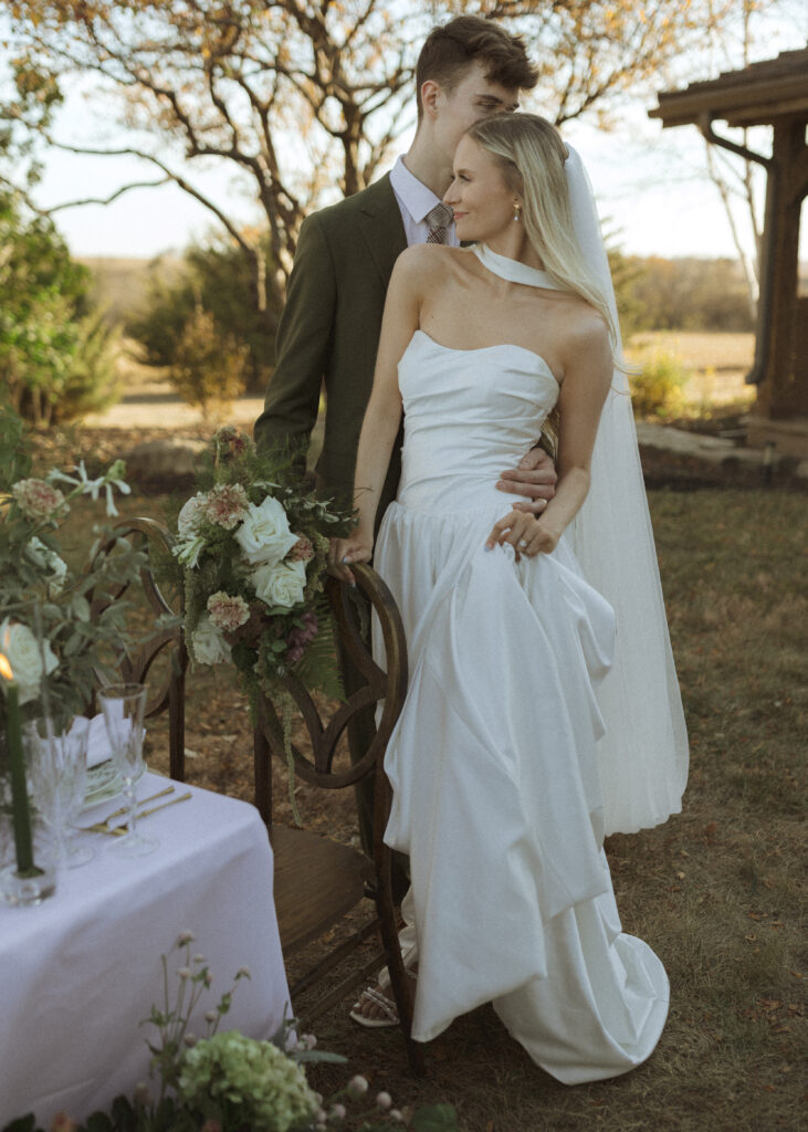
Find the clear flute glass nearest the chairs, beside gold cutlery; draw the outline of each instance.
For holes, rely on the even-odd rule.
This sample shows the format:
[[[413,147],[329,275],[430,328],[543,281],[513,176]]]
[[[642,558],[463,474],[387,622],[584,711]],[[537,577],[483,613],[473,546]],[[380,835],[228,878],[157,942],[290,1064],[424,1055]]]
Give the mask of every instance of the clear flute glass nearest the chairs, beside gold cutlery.
[[[123,780],[123,792],[129,807],[129,832],[110,846],[109,852],[121,857],[145,857],[160,844],[154,838],[144,838],[137,831],[135,816],[135,783],[143,773],[143,717],[146,707],[146,687],[143,684],[109,684],[98,693],[104,713],[106,737],[112,758]]]

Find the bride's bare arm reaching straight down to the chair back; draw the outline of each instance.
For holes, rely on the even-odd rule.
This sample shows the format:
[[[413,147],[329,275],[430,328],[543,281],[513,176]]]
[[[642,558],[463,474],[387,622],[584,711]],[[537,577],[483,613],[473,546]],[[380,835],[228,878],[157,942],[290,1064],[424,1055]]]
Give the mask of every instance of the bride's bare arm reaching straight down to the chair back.
[[[329,554],[332,573],[346,582],[352,582],[353,575],[343,564],[369,561],[373,552],[376,512],[402,419],[398,362],[419,325],[419,281],[422,280],[422,272],[418,267],[420,250],[410,248],[402,252],[387,289],[373,387],[364,411],[356,452],[353,504],[359,520],[346,539],[332,540]]]

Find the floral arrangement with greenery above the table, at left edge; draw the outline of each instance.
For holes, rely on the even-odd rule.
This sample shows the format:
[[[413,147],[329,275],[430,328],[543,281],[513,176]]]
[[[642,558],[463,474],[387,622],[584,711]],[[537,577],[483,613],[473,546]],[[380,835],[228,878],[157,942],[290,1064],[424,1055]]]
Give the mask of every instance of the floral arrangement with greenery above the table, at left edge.
[[[95,479],[84,463],[68,472],[54,469],[44,478],[31,477],[29,469],[23,422],[3,410],[0,652],[10,664],[24,713],[42,710],[38,700],[46,686],[49,713],[62,730],[91,702],[98,672],[112,674],[110,664],[126,640],[124,606],[112,601],[93,619],[91,603],[120,593],[137,577],[144,559],[126,540],[106,552],[97,549],[100,541],[92,561],[76,569],[61,544],[65,520],[79,500],[105,496],[108,516],[118,514],[114,492],[129,494],[121,461]],[[0,717],[3,712],[0,695]]]

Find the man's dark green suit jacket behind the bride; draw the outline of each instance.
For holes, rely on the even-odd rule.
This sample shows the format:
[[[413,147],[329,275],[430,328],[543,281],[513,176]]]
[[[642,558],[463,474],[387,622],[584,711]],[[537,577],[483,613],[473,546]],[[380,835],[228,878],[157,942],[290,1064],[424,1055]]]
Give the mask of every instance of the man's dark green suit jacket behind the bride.
[[[370,397],[387,284],[406,248],[389,175],[307,217],[277,332],[276,363],[256,441],[308,448],[325,384],[326,429],[317,461],[320,490],[350,500],[356,446]],[[402,435],[394,447],[377,523],[395,498]],[[303,472],[303,455],[300,472]]]

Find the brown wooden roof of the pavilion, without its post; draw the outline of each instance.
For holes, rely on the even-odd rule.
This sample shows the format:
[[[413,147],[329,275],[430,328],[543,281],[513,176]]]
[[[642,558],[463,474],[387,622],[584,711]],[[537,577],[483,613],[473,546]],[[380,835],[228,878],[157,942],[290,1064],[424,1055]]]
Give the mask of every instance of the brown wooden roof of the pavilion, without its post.
[[[697,125],[705,114],[729,126],[771,126],[775,118],[808,114],[808,48],[661,92],[659,102],[648,117],[663,126]]]

